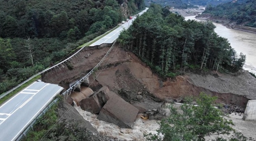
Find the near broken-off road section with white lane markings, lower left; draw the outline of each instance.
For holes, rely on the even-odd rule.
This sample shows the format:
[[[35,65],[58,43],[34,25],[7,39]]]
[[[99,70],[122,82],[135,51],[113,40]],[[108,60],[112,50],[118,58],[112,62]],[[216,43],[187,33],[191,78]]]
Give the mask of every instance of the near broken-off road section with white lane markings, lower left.
[[[63,90],[36,81],[0,107],[0,141],[14,141],[32,120]]]

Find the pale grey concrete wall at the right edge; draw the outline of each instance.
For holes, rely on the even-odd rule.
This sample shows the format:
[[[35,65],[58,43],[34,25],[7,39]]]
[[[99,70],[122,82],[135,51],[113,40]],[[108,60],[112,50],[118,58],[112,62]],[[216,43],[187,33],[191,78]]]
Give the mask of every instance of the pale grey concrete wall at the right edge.
[[[256,100],[248,101],[243,120],[256,120]]]

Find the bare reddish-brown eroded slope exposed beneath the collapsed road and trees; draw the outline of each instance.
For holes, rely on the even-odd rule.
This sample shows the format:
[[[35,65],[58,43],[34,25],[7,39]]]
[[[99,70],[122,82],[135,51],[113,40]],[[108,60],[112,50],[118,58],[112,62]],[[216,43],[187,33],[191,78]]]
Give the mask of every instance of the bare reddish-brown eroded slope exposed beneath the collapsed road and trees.
[[[56,71],[46,72],[43,81],[60,84],[63,87],[82,77],[104,56],[109,47],[89,47],[79,52],[76,59],[70,61],[72,70],[63,66]],[[96,79],[95,79],[96,78]],[[184,96],[197,96],[206,92],[218,96],[219,102],[227,105],[246,106],[248,99],[256,99],[256,79],[248,72],[237,76],[211,72],[207,74],[185,73],[175,79],[162,80],[132,52],[116,46],[99,70],[90,76],[91,88],[108,85],[109,90],[120,93],[123,90],[128,101],[136,99],[138,92],[172,101]],[[150,94],[149,94],[150,93]],[[125,98],[121,96],[122,98]]]

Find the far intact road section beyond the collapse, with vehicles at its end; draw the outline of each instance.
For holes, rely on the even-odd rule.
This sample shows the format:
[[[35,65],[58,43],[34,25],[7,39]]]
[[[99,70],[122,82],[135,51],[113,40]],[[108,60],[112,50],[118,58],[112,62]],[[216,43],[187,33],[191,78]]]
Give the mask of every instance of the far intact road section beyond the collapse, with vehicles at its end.
[[[145,10],[141,11],[139,15],[145,13],[148,10],[146,8]],[[128,29],[130,25],[132,25],[132,22],[136,19],[136,16],[134,16],[131,20],[128,22],[125,22],[122,24],[120,27],[112,31],[111,33],[107,34],[106,36],[102,37],[100,40],[96,41],[95,43],[91,44],[90,47],[93,47],[95,45],[101,45],[102,43],[113,43],[115,40],[117,40],[119,34],[121,33],[122,30]]]

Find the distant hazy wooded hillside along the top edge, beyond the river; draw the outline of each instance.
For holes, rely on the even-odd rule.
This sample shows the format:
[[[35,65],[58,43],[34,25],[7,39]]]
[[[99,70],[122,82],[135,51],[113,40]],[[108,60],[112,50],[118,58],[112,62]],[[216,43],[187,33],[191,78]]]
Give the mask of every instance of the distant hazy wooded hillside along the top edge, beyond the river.
[[[218,5],[232,0],[145,0],[145,4],[160,4],[161,6],[170,6],[178,9],[194,8],[194,5]]]

